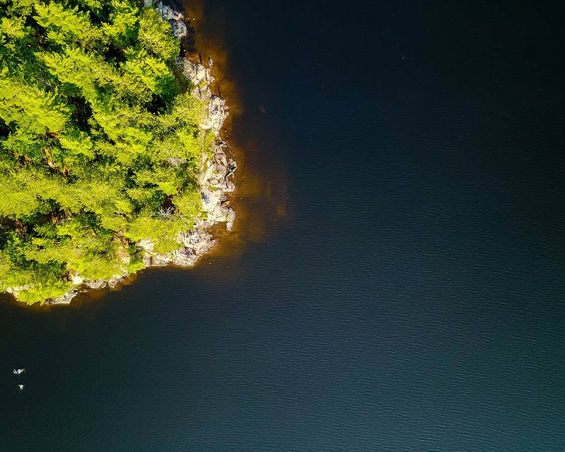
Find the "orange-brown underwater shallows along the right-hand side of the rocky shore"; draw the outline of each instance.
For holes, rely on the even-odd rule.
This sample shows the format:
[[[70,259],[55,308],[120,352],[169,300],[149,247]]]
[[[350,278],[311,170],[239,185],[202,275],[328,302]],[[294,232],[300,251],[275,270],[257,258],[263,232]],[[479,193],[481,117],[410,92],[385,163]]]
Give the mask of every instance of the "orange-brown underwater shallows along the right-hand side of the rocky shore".
[[[236,190],[227,194],[236,211],[233,230],[226,231],[221,223],[215,225],[212,232],[217,239],[216,245],[199,260],[198,265],[207,264],[211,258],[219,255],[238,257],[247,242],[266,241],[277,224],[288,217],[288,194],[282,162],[277,162],[269,150],[262,147],[259,137],[238,133],[238,123],[244,120],[245,113],[237,85],[242,81],[237,80],[236,84],[231,76],[229,46],[221,35],[225,16],[221,12],[216,14],[212,24],[205,15],[202,0],[186,0],[184,5],[195,47],[193,52],[186,52],[185,56],[195,63],[202,61],[205,66],[208,57],[212,58],[211,75],[215,79],[211,84],[212,94],[220,95],[229,106],[229,115],[220,138],[229,145],[228,156],[237,161],[237,171],[233,176]]]

